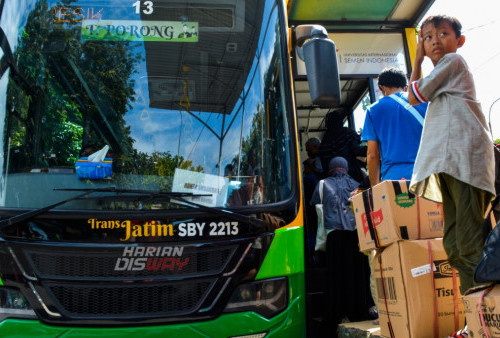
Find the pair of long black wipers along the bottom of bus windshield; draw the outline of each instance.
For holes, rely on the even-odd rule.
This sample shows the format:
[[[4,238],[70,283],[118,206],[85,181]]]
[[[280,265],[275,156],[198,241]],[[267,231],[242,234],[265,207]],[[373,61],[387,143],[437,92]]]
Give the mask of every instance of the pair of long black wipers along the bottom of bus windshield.
[[[82,199],[83,197],[90,195],[95,192],[112,192],[116,194],[140,194],[140,195],[145,195],[149,197],[164,197],[168,199],[176,199],[179,200],[183,203],[186,203],[188,205],[196,206],[200,210],[210,212],[212,214],[216,215],[221,215],[221,216],[226,216],[227,218],[230,218],[235,221],[240,221],[240,222],[247,222],[250,223],[251,225],[257,226],[259,229],[261,229],[264,225],[265,222],[259,218],[253,217],[253,216],[248,216],[244,214],[239,214],[232,212],[227,209],[219,209],[219,208],[213,208],[213,207],[207,207],[202,204],[198,204],[195,202],[191,202],[186,199],[186,197],[203,197],[203,196],[211,196],[210,194],[193,194],[190,192],[166,192],[166,191],[154,191],[154,190],[137,190],[137,189],[117,189],[115,187],[106,187],[106,188],[55,188],[54,190],[56,191],[83,191],[82,194],[67,198],[65,200],[62,200],[60,202],[48,205],[46,207],[28,211],[16,216],[9,217],[7,219],[4,219],[0,221],[0,230],[21,223],[25,222],[27,220],[30,220],[36,216],[42,215],[62,204],[66,204],[68,202]]]

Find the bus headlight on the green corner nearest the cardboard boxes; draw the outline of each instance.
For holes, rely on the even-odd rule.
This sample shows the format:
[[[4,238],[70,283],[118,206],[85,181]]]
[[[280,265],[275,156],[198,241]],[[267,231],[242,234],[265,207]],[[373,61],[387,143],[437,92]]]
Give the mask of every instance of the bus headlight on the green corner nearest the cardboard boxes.
[[[253,311],[271,318],[287,306],[288,280],[283,277],[240,285],[231,296],[224,312]]]

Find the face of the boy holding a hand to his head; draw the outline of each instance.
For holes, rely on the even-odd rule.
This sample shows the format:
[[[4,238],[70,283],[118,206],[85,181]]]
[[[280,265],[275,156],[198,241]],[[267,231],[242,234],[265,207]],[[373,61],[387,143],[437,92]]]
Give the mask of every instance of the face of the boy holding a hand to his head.
[[[422,27],[425,55],[434,64],[448,53],[455,53],[465,42],[465,36],[457,38],[455,30],[450,23],[442,21],[437,26],[429,23]]]

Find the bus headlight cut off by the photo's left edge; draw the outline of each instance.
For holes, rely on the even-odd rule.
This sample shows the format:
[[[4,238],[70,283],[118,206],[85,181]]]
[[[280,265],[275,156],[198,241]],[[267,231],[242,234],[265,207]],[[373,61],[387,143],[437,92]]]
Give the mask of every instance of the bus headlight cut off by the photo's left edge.
[[[37,318],[21,292],[0,287],[0,322],[7,318]]]

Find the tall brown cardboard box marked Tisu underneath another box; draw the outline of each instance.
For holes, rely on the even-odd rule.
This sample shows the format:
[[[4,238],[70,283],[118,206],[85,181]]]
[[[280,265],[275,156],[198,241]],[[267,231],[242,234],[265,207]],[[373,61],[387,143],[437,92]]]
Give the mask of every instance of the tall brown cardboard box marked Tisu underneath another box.
[[[442,239],[395,242],[377,252],[372,271],[382,336],[447,337],[465,325],[460,280]]]

